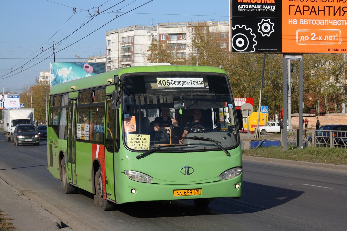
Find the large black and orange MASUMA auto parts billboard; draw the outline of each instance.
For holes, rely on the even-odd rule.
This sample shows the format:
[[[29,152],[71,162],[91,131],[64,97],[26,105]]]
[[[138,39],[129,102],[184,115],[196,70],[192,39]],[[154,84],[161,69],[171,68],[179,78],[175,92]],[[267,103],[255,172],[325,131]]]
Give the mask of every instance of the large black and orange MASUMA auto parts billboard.
[[[347,53],[342,0],[230,0],[231,52]]]

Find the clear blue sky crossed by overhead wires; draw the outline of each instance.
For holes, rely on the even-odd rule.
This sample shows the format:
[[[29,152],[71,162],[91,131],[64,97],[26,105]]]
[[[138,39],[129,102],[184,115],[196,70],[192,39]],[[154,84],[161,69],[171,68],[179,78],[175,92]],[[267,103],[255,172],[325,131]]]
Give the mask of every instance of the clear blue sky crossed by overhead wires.
[[[94,15],[98,7],[99,15]],[[75,55],[84,60],[105,54],[109,30],[229,20],[228,0],[12,0],[2,1],[1,9],[0,91],[18,93],[34,83],[41,70],[50,69],[53,41],[56,62],[77,62]]]

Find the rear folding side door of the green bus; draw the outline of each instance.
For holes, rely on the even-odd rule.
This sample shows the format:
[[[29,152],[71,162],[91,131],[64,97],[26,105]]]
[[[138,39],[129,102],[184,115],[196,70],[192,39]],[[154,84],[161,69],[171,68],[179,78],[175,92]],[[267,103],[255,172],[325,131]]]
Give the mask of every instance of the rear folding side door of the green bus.
[[[67,166],[69,182],[77,185],[76,180],[76,106],[77,100],[69,100],[67,133]]]

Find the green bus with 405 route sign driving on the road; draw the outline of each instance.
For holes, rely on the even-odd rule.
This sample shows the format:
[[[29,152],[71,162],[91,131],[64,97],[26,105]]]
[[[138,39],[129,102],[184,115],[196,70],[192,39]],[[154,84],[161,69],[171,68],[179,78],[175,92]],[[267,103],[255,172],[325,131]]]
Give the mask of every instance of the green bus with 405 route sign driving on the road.
[[[177,123],[159,132],[162,108]],[[187,126],[195,111],[204,126],[194,130]],[[102,210],[180,199],[208,206],[216,197],[241,197],[241,126],[221,68],[121,68],[52,86],[48,170],[64,193],[90,192]]]

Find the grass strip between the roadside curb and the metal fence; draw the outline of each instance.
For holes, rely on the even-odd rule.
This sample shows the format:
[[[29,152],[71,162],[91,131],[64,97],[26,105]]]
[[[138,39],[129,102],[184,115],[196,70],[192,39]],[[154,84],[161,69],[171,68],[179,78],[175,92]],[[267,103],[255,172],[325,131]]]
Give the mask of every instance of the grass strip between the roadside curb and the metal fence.
[[[347,149],[341,148],[306,147],[299,149],[289,146],[287,151],[283,151],[283,147],[261,147],[242,150],[242,154],[253,157],[347,165]]]

